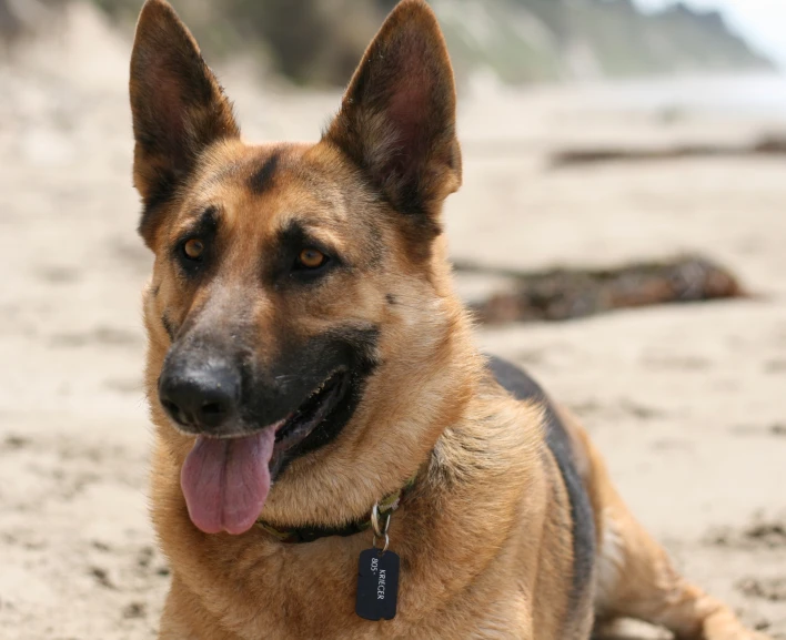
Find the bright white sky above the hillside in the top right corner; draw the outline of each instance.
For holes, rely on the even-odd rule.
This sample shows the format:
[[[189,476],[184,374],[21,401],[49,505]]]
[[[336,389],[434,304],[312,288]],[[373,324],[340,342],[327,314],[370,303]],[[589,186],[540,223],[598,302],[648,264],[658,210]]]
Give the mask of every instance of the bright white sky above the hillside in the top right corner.
[[[675,0],[635,0],[645,9],[661,9]],[[753,47],[786,69],[786,0],[684,0],[697,9],[720,9],[729,27]]]

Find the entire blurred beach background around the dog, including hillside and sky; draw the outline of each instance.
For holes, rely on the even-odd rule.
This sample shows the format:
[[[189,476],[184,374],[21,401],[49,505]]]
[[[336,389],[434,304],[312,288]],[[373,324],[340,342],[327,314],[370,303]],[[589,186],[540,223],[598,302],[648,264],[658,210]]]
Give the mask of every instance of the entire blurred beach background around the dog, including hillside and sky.
[[[0,0],[9,640],[149,638],[168,588],[127,94],[141,4]],[[173,4],[245,136],[272,141],[319,138],[395,1]],[[445,224],[478,342],[581,417],[691,578],[786,638],[786,3],[432,6],[465,158]]]

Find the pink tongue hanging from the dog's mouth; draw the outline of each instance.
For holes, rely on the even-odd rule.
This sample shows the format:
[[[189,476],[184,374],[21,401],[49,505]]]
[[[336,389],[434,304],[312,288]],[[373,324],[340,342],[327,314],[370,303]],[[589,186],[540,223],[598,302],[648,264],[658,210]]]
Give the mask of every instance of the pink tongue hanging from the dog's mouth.
[[[275,427],[230,440],[196,438],[180,473],[191,521],[205,534],[244,534],[270,491]]]

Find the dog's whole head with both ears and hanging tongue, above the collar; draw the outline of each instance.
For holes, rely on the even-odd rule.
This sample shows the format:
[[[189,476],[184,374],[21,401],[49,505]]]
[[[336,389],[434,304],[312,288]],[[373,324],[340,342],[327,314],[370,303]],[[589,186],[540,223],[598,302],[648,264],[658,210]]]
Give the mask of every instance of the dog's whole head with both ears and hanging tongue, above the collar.
[[[131,62],[148,387],[206,532],[339,525],[423,463],[468,393],[444,199],[461,183],[436,20],[404,0],[316,144],[251,145],[172,8]],[[276,480],[274,490],[269,490]]]

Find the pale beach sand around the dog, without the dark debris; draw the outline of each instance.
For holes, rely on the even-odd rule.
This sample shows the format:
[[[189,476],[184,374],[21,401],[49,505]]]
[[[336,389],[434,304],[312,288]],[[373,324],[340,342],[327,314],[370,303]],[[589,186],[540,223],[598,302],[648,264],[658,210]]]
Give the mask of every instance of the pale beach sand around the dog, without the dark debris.
[[[134,232],[130,44],[81,6],[64,27],[0,64],[0,637],[150,638],[169,571],[147,514],[151,256]],[[225,71],[252,140],[313,140],[337,104]],[[478,341],[582,417],[688,576],[786,638],[786,161],[546,163],[565,145],[734,142],[784,124],[706,108],[665,118],[627,91],[467,89],[453,255],[544,268],[699,251],[756,294]]]

